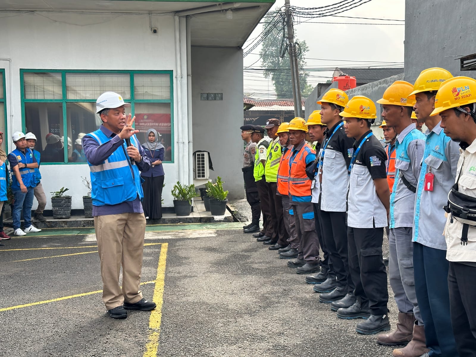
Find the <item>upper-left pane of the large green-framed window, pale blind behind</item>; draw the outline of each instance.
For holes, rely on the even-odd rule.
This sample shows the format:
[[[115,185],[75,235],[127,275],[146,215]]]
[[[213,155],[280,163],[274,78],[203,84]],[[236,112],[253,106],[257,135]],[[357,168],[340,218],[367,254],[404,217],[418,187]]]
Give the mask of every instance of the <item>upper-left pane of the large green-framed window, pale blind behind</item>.
[[[61,73],[23,74],[26,99],[62,99]]]

